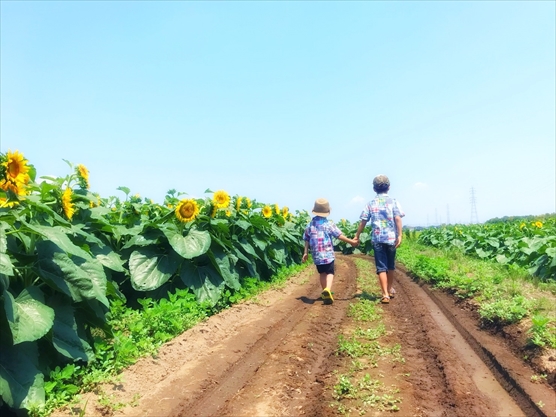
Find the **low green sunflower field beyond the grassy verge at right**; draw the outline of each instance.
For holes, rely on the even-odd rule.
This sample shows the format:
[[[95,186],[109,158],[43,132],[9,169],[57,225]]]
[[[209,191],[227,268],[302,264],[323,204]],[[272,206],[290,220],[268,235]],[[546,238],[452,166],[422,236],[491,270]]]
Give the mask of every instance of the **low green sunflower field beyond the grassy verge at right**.
[[[431,227],[420,232],[418,241],[436,248],[457,247],[467,255],[527,268],[542,280],[556,280],[555,215]]]

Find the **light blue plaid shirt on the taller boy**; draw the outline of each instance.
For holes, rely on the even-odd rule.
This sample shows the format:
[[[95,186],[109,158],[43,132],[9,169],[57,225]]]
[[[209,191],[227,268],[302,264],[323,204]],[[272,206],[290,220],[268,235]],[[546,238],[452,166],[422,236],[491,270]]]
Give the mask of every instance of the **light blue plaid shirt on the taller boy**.
[[[394,221],[396,216],[405,216],[400,203],[383,193],[377,194],[373,200],[367,203],[359,218],[366,222],[371,221],[371,240],[373,242],[394,245],[397,237],[396,222]]]

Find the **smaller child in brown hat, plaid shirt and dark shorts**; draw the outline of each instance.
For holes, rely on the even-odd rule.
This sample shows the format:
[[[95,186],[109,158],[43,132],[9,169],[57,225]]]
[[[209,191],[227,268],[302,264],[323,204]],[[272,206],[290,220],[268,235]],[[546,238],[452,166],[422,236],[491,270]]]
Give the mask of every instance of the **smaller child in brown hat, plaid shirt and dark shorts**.
[[[305,251],[303,252],[303,262],[307,260],[309,248],[313,262],[320,274],[320,285],[322,287],[322,299],[324,304],[332,304],[332,281],[334,280],[334,244],[332,238],[347,242],[352,246],[357,246],[358,242],[347,238],[342,234],[333,222],[327,217],[330,215],[330,204],[328,200],[319,198],[313,207],[315,217],[311,219],[305,228],[303,240],[305,241]]]

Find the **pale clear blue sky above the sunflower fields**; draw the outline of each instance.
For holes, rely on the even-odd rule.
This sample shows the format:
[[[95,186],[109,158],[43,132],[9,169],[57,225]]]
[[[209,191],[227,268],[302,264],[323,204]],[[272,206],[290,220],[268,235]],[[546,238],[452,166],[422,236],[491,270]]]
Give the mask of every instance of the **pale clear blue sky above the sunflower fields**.
[[[553,1],[1,1],[0,151],[162,202],[556,211]]]

